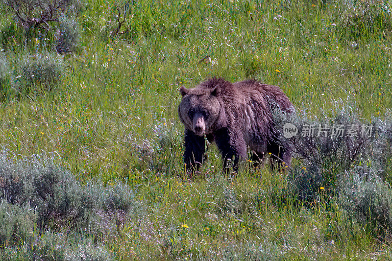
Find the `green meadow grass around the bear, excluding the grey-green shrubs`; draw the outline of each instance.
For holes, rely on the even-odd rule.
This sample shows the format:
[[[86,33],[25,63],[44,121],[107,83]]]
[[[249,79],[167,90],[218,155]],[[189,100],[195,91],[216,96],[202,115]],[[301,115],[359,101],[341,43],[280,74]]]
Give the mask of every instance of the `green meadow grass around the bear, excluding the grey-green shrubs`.
[[[279,201],[287,181],[268,167],[243,167],[231,182],[213,148],[188,182],[177,117],[179,87],[210,76],[278,85],[309,115],[336,103],[353,104],[363,119],[385,114],[392,104],[386,12],[364,15],[372,24],[364,17],[350,24],[355,4],[344,1],[130,2],[132,32],[109,38],[112,4],[87,0],[79,46],[64,56],[58,87],[21,96],[11,88],[0,103],[0,144],[10,153],[44,151],[83,181],[135,186],[147,214],[105,239],[117,259],[392,258],[388,238],[370,237],[322,191],[311,207]],[[0,14],[0,54],[17,81],[18,61],[51,47],[39,38],[24,43],[12,15]]]

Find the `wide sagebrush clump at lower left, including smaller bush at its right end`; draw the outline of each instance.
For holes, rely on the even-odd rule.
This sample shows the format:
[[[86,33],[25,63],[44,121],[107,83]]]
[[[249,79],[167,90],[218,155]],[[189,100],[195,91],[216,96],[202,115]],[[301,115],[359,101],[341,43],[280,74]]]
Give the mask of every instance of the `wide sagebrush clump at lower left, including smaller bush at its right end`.
[[[39,228],[50,226],[82,229],[99,233],[101,216],[118,214],[122,222],[128,214],[142,214],[141,204],[135,200],[127,184],[80,184],[74,175],[58,166],[45,155],[32,160],[0,154],[0,198],[9,204],[28,206],[36,210]]]

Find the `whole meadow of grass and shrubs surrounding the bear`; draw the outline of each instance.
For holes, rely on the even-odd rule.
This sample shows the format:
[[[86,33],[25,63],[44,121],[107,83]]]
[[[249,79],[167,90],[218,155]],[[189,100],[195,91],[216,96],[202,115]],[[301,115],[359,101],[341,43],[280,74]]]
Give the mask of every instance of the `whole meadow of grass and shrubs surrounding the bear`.
[[[391,12],[2,0],[0,260],[392,259]],[[278,126],[373,135],[298,135],[284,173],[244,162],[234,178],[212,147],[189,182],[178,89],[211,76],[280,86],[297,114]]]

